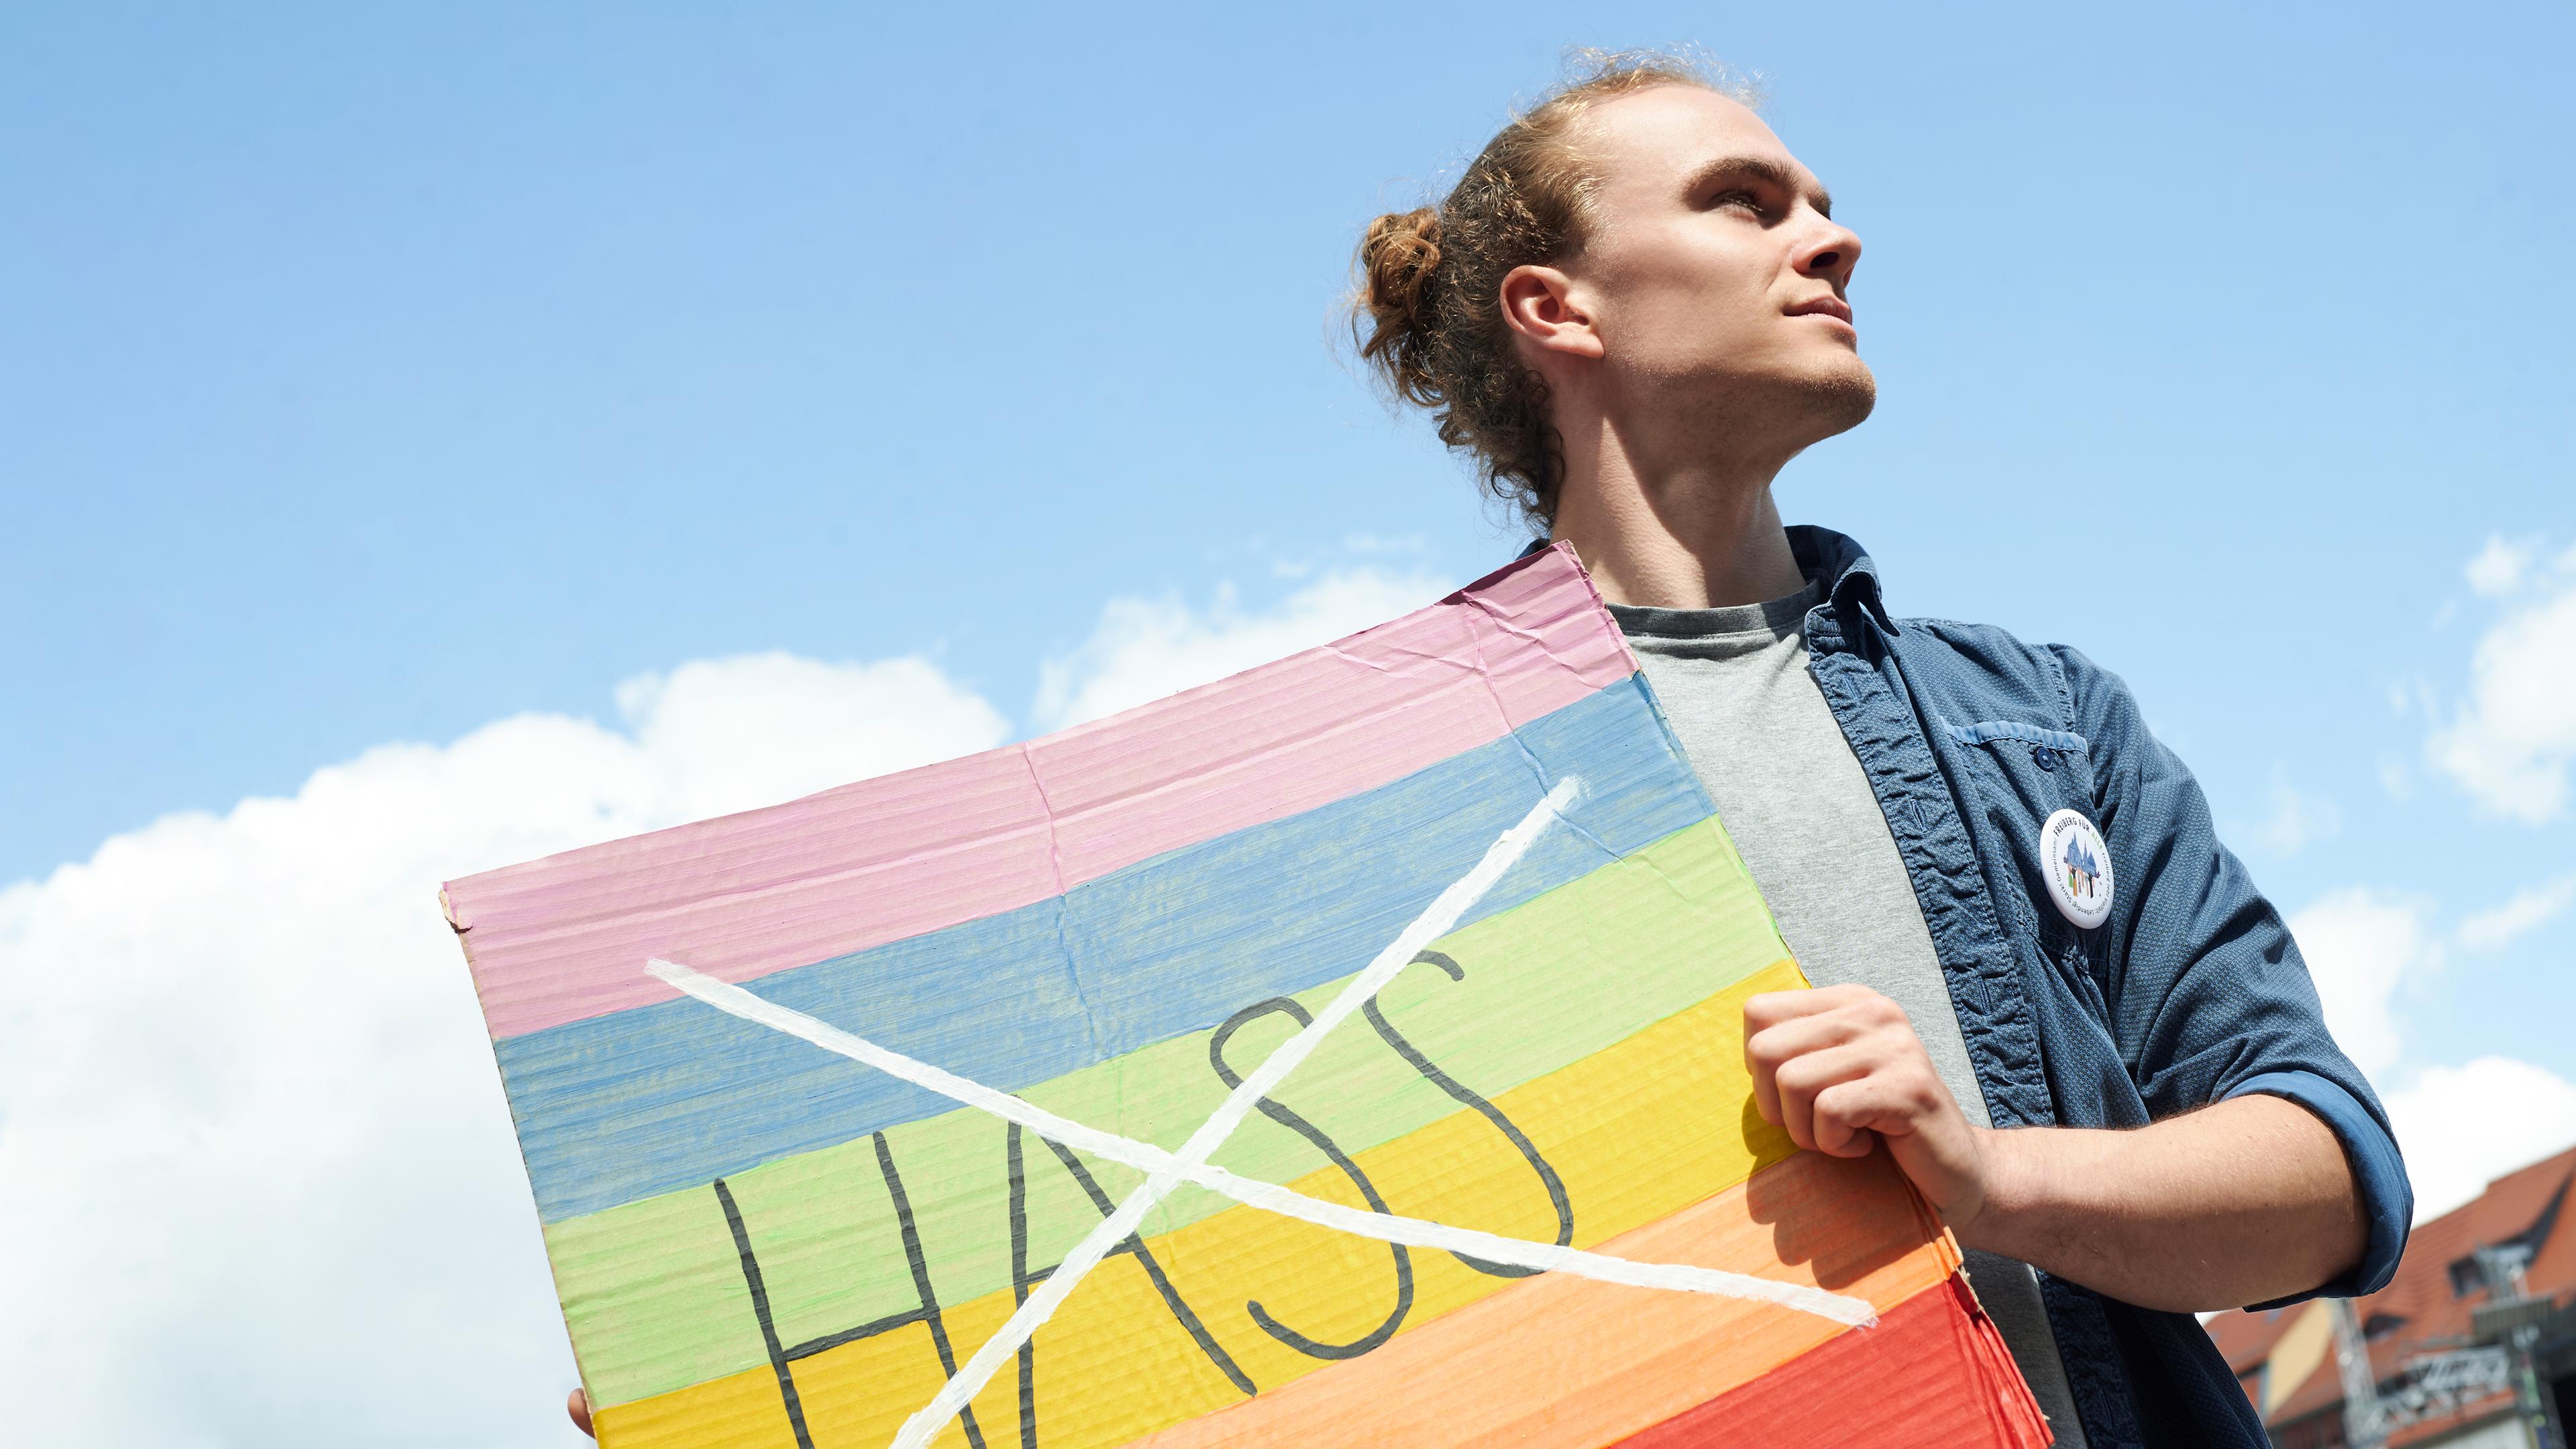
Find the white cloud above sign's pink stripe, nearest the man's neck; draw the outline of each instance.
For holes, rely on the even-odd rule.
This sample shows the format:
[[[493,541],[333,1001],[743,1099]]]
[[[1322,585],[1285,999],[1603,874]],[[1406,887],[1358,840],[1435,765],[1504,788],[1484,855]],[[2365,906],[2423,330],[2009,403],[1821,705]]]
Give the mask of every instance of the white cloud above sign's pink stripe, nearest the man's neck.
[[[1329,645],[1412,614],[1453,585],[1383,570],[1329,572],[1267,614],[1244,614],[1224,588],[1206,611],[1177,598],[1115,598],[1092,637],[1038,670],[1036,717],[1061,730]]]

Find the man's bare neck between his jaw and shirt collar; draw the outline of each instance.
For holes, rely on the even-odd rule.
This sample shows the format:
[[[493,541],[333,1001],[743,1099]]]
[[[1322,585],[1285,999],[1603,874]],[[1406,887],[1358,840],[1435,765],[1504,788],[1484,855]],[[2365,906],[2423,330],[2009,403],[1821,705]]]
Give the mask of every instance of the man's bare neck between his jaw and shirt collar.
[[[1610,603],[1723,608],[1798,593],[1806,575],[1770,485],[1788,459],[1641,467],[1613,428],[1566,438],[1553,536]]]

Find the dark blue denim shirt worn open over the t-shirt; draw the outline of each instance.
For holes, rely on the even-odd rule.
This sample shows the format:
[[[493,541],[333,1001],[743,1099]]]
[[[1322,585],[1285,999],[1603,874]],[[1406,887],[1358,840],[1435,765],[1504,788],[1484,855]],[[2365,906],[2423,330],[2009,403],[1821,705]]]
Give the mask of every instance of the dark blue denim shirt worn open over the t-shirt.
[[[2063,645],[1896,619],[1860,544],[1788,539],[1826,583],[1808,670],[1914,877],[1994,1124],[2143,1127],[2244,1093],[2298,1101],[2342,1140],[2370,1220],[2362,1261],[2316,1294],[2385,1287],[2414,1214],[2388,1114],[2128,686]],[[2058,810],[2110,843],[2112,915],[2092,931],[2048,900],[2038,841]],[[2269,1444],[2192,1315],[2053,1274],[2040,1297],[2094,1449]]]

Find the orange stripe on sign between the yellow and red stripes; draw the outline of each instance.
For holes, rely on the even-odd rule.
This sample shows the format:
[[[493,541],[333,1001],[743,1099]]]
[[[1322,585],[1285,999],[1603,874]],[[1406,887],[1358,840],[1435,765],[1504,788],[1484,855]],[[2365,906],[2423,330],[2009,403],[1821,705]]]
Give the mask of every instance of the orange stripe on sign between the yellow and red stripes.
[[[1958,1248],[1883,1155],[1798,1152],[1600,1245],[1656,1263],[1747,1269],[1878,1305],[1940,1289]],[[1947,1297],[1947,1294],[1945,1294]],[[1133,1444],[1597,1446],[1687,1413],[1847,1330],[1785,1307],[1561,1274],[1396,1336],[1365,1359]]]

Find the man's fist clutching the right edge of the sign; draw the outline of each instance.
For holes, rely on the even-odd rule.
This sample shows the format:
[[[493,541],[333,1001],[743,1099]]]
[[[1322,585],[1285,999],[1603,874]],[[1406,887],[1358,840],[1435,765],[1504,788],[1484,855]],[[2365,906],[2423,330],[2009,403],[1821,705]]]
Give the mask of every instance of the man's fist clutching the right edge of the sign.
[[[1744,1067],[1762,1119],[1790,1142],[1834,1158],[1886,1142],[1953,1230],[1986,1209],[1986,1134],[1968,1127],[1893,1000],[1862,985],[1749,998]]]

